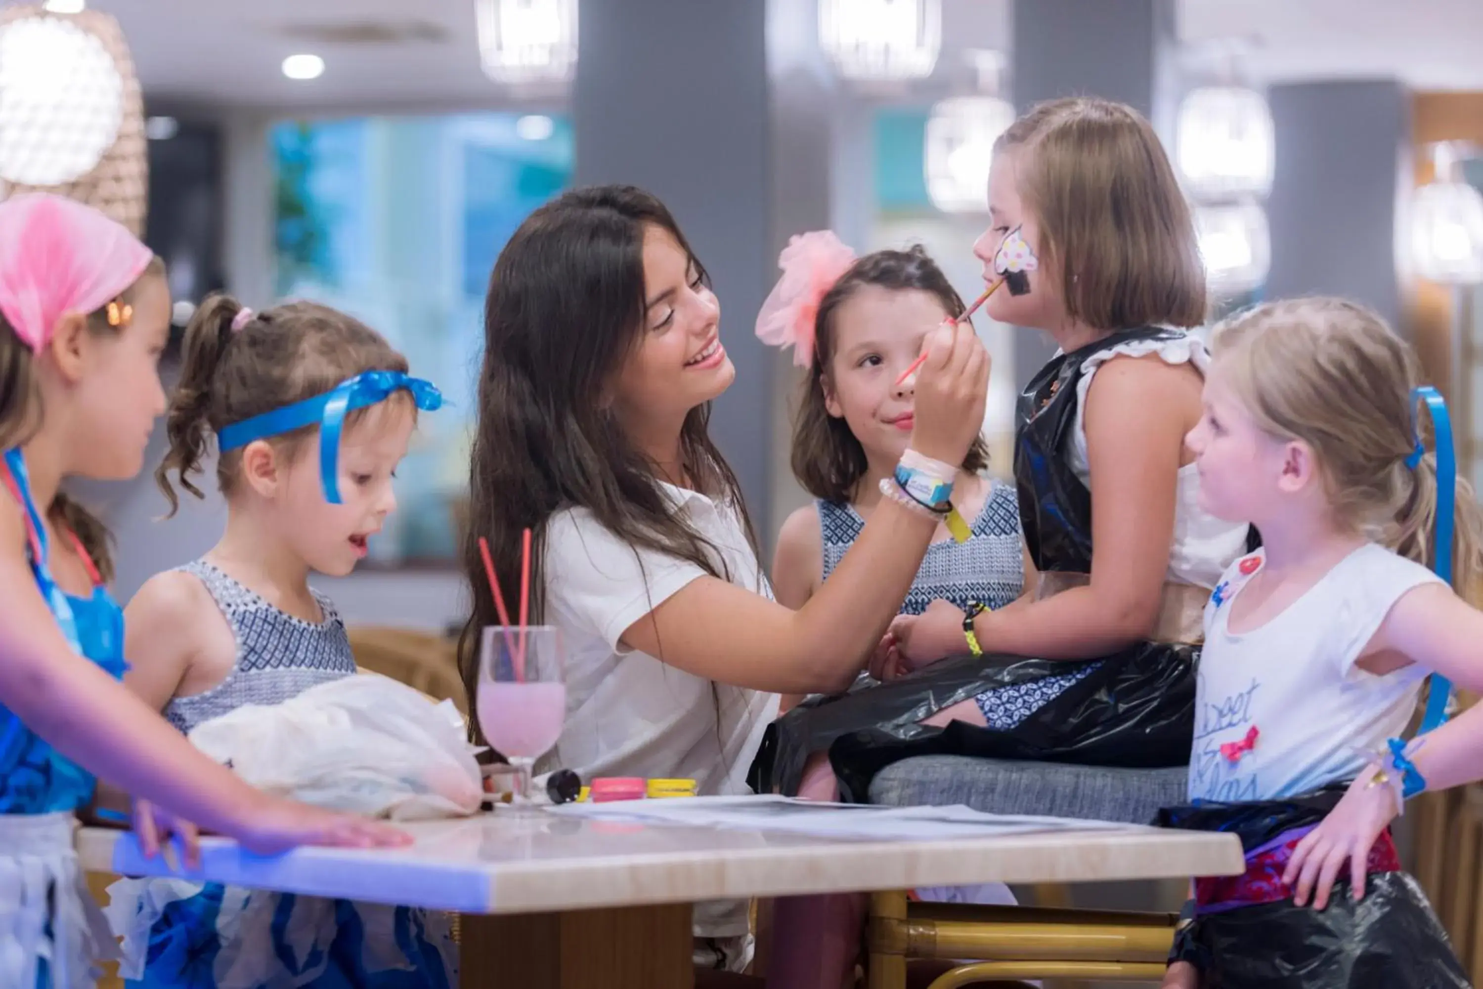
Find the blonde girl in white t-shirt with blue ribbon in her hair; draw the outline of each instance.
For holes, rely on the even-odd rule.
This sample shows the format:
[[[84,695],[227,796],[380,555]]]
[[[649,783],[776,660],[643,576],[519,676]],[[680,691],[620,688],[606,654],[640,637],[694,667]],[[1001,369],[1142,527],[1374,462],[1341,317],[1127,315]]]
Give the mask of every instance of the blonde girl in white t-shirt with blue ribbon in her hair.
[[[1433,761],[1449,728],[1430,731],[1447,681],[1483,689],[1483,614],[1449,586],[1483,577],[1483,513],[1456,477],[1446,406],[1416,387],[1413,351],[1341,300],[1259,305],[1221,325],[1213,351],[1188,437],[1201,500],[1249,519],[1262,549],[1206,611],[1192,807],[1166,820],[1238,833],[1247,873],[1195,884],[1166,989],[1465,986],[1388,829],[1404,798],[1456,781],[1458,762]],[[1407,744],[1428,675],[1428,734]],[[1341,879],[1350,896],[1335,897]]]

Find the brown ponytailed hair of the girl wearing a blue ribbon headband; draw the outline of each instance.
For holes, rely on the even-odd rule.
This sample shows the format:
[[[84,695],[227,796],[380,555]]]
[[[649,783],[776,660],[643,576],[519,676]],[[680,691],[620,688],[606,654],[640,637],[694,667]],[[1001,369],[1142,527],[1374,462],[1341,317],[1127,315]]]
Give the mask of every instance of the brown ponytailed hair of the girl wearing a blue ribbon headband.
[[[191,474],[200,473],[222,427],[323,394],[363,371],[406,371],[406,357],[381,334],[328,305],[286,302],[249,313],[246,325],[233,329],[242,311],[242,302],[215,294],[200,304],[185,328],[181,380],[165,414],[171,446],[154,472],[154,482],[171,503],[169,515],[179,509],[171,474],[182,489],[200,498],[202,491]],[[351,411],[346,424],[368,412],[369,408]],[[268,442],[292,455],[316,429],[305,426]],[[240,451],[218,458],[221,494],[231,494],[240,461]]]

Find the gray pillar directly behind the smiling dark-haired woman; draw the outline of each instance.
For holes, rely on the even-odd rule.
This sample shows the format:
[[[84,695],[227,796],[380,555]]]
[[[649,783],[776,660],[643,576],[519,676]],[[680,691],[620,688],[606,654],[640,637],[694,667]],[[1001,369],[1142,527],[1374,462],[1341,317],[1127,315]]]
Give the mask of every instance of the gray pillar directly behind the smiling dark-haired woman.
[[[710,431],[770,519],[773,354],[752,334],[771,282],[767,4],[581,0],[575,182],[632,182],[673,211],[721,298],[736,384]]]

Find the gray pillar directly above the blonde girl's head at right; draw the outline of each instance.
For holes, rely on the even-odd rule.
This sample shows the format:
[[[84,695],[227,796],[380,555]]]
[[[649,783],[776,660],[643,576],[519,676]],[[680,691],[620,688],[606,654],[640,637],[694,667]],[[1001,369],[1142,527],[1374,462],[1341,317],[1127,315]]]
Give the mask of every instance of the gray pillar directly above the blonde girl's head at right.
[[[1400,326],[1396,224],[1410,98],[1394,79],[1272,86],[1266,298],[1344,295]],[[1409,178],[1409,175],[1406,176]]]

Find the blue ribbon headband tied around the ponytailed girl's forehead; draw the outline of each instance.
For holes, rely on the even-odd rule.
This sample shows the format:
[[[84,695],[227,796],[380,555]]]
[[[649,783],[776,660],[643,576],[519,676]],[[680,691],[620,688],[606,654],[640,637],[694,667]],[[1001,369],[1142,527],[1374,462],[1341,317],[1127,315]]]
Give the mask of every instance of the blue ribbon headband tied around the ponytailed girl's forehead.
[[[432,381],[412,378],[400,371],[365,371],[323,394],[224,427],[217,433],[217,446],[227,452],[254,440],[319,426],[319,479],[325,486],[325,501],[340,504],[340,434],[346,415],[353,409],[386,402],[393,391],[403,390],[412,394],[417,408],[424,412],[433,412],[443,403],[442,391]]]

